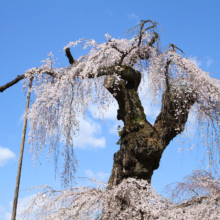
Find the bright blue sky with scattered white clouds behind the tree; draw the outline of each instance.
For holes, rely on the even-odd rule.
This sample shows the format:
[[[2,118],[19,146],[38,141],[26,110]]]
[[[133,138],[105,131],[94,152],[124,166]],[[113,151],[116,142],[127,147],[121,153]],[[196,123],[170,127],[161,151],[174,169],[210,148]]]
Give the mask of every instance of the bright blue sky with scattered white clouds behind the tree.
[[[176,44],[188,57],[197,58],[197,64],[220,79],[220,2],[214,0],[9,0],[0,7],[0,85],[14,79],[27,69],[40,66],[52,51],[60,66],[68,65],[63,47],[70,41],[85,37],[102,43],[105,34],[124,37],[124,32],[141,19],[159,22],[164,33],[161,44]],[[80,48],[72,49],[77,58]],[[17,163],[26,97],[18,83],[0,94],[0,219],[10,219],[14,196]],[[156,112],[149,100],[142,100],[147,119],[153,121]],[[75,140],[79,160],[77,176],[95,177],[107,181],[113,165],[113,154],[119,149],[116,118],[117,107],[102,123],[94,115],[95,107],[82,121],[80,137]],[[121,124],[122,125],[122,124]],[[192,131],[190,131],[192,132]],[[200,150],[178,153],[179,143],[174,139],[165,150],[160,167],[154,172],[152,184],[161,193],[166,184],[181,181],[196,169],[202,159]],[[188,145],[185,145],[185,149]],[[198,153],[197,153],[198,152]],[[45,159],[33,168],[29,146],[25,145],[19,202],[24,204],[34,194],[32,186],[48,184],[60,188],[54,179],[54,164]],[[79,182],[79,184],[85,184]],[[19,208],[20,210],[22,208]]]

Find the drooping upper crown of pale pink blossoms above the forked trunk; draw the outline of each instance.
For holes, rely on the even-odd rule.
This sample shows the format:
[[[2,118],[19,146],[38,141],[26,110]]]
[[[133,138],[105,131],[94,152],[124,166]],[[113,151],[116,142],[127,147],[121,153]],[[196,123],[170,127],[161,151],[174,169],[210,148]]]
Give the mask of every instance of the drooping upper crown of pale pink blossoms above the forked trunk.
[[[150,26],[146,27],[147,24]],[[151,20],[141,21],[132,29],[139,28],[139,31],[130,40],[115,39],[106,34],[107,42],[102,44],[87,39],[70,42],[64,47],[70,66],[56,68],[50,53],[41,67],[26,71],[24,87],[30,78],[34,78],[32,91],[35,99],[28,116],[31,122],[29,143],[35,158],[43,146],[48,146],[48,155],[51,152],[56,155],[58,144],[63,143],[64,176],[72,176],[71,170],[75,172],[77,166],[73,136],[79,130],[79,114],[85,116],[89,103],[93,103],[104,117],[113,102],[113,97],[103,86],[108,75],[123,80],[126,85],[137,81],[136,89],[145,89],[155,98],[161,98],[165,91],[175,94],[177,120],[189,111],[186,108],[184,112],[178,106],[183,102],[187,104],[188,97],[195,99],[191,111],[198,119],[200,131],[204,132],[204,126],[214,129],[212,138],[207,136],[206,139],[207,145],[212,141],[212,150],[208,154],[213,158],[214,151],[219,149],[220,81],[182,56],[183,52],[177,46],[170,44],[162,52],[157,25]],[[155,42],[157,46],[154,46]],[[69,48],[79,44],[83,49],[91,49],[87,55],[75,60]],[[136,71],[125,71],[125,68]],[[116,90],[117,86],[113,89]],[[180,133],[181,128],[177,126],[176,131]]]

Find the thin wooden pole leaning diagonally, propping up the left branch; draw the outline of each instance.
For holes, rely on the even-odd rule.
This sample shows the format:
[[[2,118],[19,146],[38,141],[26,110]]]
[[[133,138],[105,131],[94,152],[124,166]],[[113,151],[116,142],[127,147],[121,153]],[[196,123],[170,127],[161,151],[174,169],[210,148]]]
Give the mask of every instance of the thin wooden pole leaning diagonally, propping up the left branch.
[[[27,114],[28,114],[28,108],[29,108],[29,103],[30,103],[32,81],[33,81],[33,78],[30,78],[27,100],[26,100],[25,117],[24,117],[24,125],[23,125],[22,138],[21,138],[21,148],[20,148],[20,155],[19,155],[19,161],[18,161],[18,171],[17,171],[17,177],[16,177],[14,203],[13,203],[11,220],[16,220],[18,193],[19,193],[19,185],[20,185],[20,178],[21,178],[21,167],[22,167],[22,159],[23,159],[23,153],[24,153],[25,135],[26,135],[26,129],[27,129]]]

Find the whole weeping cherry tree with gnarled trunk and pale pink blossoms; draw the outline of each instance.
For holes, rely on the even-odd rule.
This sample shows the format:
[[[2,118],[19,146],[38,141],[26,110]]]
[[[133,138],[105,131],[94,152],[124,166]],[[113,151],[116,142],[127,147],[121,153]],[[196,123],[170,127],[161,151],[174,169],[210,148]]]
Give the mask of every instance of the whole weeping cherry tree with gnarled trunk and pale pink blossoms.
[[[28,142],[35,160],[46,147],[48,157],[53,154],[56,161],[62,145],[65,185],[74,179],[77,167],[73,137],[80,128],[79,114],[85,116],[89,104],[95,104],[104,118],[116,100],[117,120],[124,123],[119,131],[120,149],[114,154],[106,188],[69,188],[58,192],[45,186],[43,193],[31,203],[33,208],[34,201],[41,199],[38,202],[41,212],[39,209],[35,212],[38,219],[60,219],[60,216],[62,219],[168,219],[167,213],[171,213],[170,219],[179,214],[187,219],[198,213],[187,208],[170,209],[173,203],[157,195],[149,184],[164,150],[186,128],[189,113],[198,122],[210,165],[217,164],[220,81],[211,78],[176,45],[170,44],[162,50],[158,26],[152,20],[142,20],[129,30],[130,39],[115,39],[106,34],[106,42],[102,44],[87,39],[70,42],[64,47],[69,66],[57,68],[53,55],[49,54],[42,66],[29,69],[0,87],[3,92],[23,80],[27,88],[33,78],[35,98],[28,113],[31,126]],[[70,48],[78,45],[90,51],[74,59]],[[154,124],[146,118],[140,90],[156,104],[160,102]],[[207,214],[205,208],[199,209],[201,216]],[[215,208],[211,212],[215,213]]]

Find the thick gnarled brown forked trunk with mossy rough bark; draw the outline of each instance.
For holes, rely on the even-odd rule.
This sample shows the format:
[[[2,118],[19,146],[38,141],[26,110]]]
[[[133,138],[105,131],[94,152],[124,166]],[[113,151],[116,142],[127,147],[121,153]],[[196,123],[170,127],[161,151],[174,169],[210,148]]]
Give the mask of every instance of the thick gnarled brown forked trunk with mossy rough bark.
[[[196,102],[195,96],[184,93],[185,97],[177,105],[175,91],[167,88],[162,96],[161,112],[154,125],[151,125],[146,119],[137,92],[141,74],[131,67],[123,66],[121,75],[128,75],[128,71],[136,77],[132,80],[118,80],[109,75],[104,81],[105,88],[111,94],[116,94],[113,96],[119,106],[117,119],[124,122],[124,127],[119,132],[120,150],[114,154],[109,187],[120,184],[128,177],[144,179],[151,183],[163,151],[170,141],[184,130],[189,109]],[[178,109],[182,110],[182,114],[177,117],[175,114]]]

